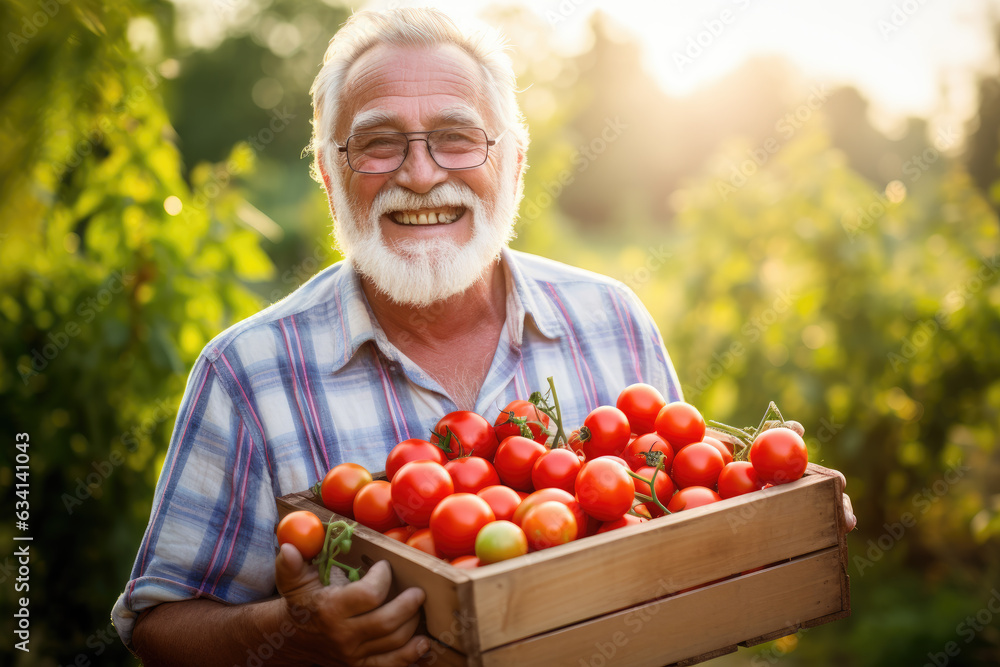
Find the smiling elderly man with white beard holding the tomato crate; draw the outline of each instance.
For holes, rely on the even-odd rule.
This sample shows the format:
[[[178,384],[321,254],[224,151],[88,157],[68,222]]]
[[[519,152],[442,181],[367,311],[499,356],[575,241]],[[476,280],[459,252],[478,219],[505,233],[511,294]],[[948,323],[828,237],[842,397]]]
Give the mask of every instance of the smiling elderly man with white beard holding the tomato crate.
[[[315,172],[345,258],[209,343],[132,579],[114,608],[154,665],[406,665],[424,594],[377,563],[323,587],[275,496],[331,466],[381,469],[455,409],[497,411],[554,376],[579,424],[646,382],[680,390],[620,283],[509,250],[527,130],[503,43],[433,10],[356,14],[313,86]]]

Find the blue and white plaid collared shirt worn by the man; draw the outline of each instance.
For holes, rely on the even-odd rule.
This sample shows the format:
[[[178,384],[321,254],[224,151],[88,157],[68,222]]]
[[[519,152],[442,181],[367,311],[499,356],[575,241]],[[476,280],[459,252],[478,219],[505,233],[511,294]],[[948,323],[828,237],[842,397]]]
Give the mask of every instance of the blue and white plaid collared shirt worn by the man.
[[[575,428],[627,385],[668,401],[681,390],[663,340],[627,287],[505,250],[506,321],[476,412],[500,408],[553,376]],[[131,646],[139,612],[206,597],[275,594],[275,497],[332,466],[382,470],[392,447],[426,438],[457,409],[375,320],[357,273],[340,262],[208,344],[188,379],[132,579],[112,612]]]

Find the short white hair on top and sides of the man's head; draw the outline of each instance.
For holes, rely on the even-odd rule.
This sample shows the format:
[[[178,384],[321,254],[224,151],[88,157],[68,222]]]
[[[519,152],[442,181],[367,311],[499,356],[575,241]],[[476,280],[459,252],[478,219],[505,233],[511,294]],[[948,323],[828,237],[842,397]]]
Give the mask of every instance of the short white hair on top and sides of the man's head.
[[[335,178],[333,132],[340,111],[340,95],[347,73],[368,50],[388,44],[401,47],[435,47],[453,44],[479,66],[486,94],[487,133],[496,137],[505,130],[513,137],[517,152],[528,149],[528,127],[517,105],[516,79],[507,43],[496,30],[466,34],[443,12],[432,8],[361,11],[337,31],[323,57],[323,67],[313,81],[313,134],[309,150],[314,154],[313,177],[323,183],[322,172]],[[346,137],[342,137],[346,140]],[[323,164],[320,165],[319,161]],[[322,169],[321,169],[322,167]],[[517,188],[518,200],[522,187]]]

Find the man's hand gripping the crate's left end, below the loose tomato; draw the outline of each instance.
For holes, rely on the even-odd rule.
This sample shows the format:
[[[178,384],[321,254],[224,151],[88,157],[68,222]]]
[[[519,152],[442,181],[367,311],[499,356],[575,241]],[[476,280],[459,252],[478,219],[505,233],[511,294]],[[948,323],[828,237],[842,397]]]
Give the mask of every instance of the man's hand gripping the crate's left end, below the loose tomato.
[[[426,637],[413,634],[424,592],[408,588],[385,602],[392,585],[387,562],[375,563],[353,583],[334,568],[330,585],[324,586],[316,568],[305,563],[295,547],[283,544],[274,569],[278,592],[297,630],[289,644],[302,657],[323,665],[404,667],[430,648]]]

